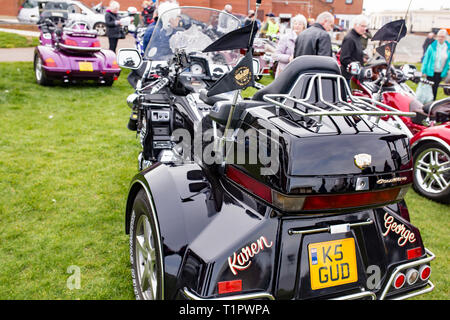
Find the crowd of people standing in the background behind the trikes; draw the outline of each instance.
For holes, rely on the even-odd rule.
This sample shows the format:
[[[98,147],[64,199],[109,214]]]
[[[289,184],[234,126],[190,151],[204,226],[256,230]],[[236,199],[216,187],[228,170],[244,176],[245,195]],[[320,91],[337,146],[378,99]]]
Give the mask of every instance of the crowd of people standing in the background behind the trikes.
[[[158,16],[177,6],[175,0],[166,0],[159,5],[156,0],[142,3],[141,23],[147,27],[143,38],[144,50],[153,34]],[[119,3],[113,0],[105,15],[110,50],[113,51],[116,51],[117,42],[123,37],[121,22],[117,15],[119,8]],[[227,32],[227,17],[230,14],[233,14],[233,8],[230,4],[226,4],[218,19],[218,28],[224,33]],[[330,12],[322,12],[316,19],[308,20],[304,15],[297,14],[290,19],[288,26],[280,24],[273,13],[268,13],[265,17],[265,21],[261,22],[255,17],[255,11],[249,10],[242,25],[245,26],[255,20],[260,30],[260,37],[266,37],[276,42],[276,50],[273,52],[273,60],[277,62],[275,77],[278,77],[286,65],[298,56],[333,55],[330,32],[335,26],[335,18]],[[351,30],[347,32],[342,41],[338,57],[342,75],[349,82],[352,75],[348,66],[352,62],[359,62],[361,65],[366,62],[364,50],[370,37],[368,17],[357,16],[353,20]],[[436,35],[430,33],[423,44],[423,49],[422,72],[435,83],[433,94],[436,98],[438,85],[442,79],[447,77],[450,64],[450,43],[447,41],[447,31],[440,30]]]

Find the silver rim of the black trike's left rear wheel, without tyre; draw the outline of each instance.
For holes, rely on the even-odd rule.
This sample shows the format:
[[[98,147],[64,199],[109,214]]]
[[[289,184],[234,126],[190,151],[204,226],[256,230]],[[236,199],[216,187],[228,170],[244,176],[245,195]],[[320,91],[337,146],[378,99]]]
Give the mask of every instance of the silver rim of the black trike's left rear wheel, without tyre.
[[[136,269],[144,299],[155,300],[157,289],[156,250],[150,221],[141,215],[136,225]]]

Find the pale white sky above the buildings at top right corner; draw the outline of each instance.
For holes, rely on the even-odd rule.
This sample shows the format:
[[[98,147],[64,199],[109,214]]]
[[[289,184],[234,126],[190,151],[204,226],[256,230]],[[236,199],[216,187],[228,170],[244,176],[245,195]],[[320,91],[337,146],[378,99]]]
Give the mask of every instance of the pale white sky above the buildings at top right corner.
[[[366,12],[384,10],[405,10],[410,0],[364,0]],[[439,10],[450,7],[450,0],[412,0],[411,9]]]

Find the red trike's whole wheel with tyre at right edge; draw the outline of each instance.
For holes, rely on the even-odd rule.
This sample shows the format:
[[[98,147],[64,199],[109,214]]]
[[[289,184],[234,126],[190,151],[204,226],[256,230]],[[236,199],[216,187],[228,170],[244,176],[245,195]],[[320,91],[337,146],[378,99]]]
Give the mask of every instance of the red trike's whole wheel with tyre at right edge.
[[[414,152],[414,189],[441,203],[450,203],[450,152],[437,142]]]

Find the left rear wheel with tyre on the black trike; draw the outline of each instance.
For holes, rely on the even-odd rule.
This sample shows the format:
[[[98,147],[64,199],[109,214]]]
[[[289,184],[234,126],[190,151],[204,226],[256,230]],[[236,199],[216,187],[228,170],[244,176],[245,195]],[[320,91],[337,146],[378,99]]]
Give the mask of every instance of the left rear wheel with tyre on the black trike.
[[[159,227],[150,200],[140,190],[130,223],[131,275],[136,299],[163,299],[162,249]]]

